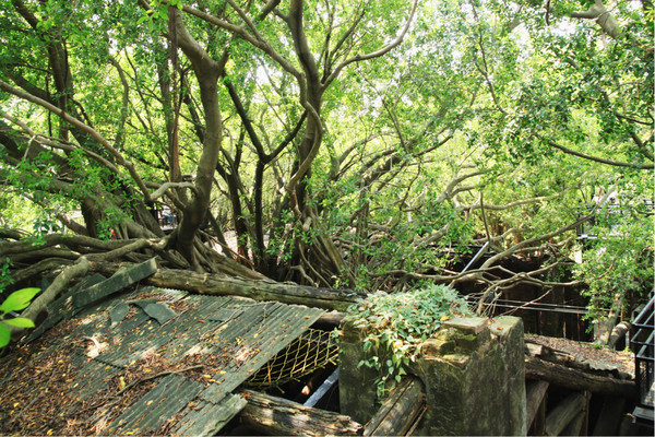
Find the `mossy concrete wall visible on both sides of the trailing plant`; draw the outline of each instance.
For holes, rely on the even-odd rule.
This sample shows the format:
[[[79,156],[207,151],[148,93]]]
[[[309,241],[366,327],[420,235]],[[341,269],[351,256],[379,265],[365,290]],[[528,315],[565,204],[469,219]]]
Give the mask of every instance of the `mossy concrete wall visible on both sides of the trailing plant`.
[[[343,414],[367,423],[378,409],[377,371],[358,363],[362,331],[345,321],[341,339]],[[420,346],[412,373],[428,410],[416,435],[525,435],[523,323],[516,317],[446,321]]]

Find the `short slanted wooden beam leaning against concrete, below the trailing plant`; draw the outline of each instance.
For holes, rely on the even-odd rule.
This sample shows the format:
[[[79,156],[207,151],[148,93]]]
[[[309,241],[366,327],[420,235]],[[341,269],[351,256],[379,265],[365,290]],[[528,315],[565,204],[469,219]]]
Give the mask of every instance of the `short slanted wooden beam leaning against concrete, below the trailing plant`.
[[[404,436],[425,409],[424,385],[406,376],[364,429],[365,436]]]

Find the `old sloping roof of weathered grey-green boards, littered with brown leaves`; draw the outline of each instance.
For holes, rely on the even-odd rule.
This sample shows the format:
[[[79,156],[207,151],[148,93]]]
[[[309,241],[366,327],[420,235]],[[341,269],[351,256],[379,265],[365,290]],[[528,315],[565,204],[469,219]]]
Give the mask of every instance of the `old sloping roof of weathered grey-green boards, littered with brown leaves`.
[[[12,352],[2,434],[213,435],[246,405],[233,391],[323,312],[154,287],[86,305]]]

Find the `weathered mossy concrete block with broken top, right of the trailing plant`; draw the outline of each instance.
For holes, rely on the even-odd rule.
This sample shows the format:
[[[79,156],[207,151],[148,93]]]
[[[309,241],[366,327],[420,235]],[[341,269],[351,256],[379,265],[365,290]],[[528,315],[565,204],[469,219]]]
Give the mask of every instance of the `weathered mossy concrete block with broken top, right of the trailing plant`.
[[[438,336],[454,350],[421,349],[414,371],[429,409],[415,434],[525,435],[522,320],[454,319]]]

